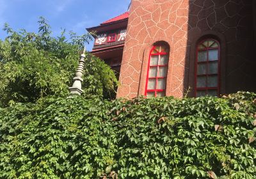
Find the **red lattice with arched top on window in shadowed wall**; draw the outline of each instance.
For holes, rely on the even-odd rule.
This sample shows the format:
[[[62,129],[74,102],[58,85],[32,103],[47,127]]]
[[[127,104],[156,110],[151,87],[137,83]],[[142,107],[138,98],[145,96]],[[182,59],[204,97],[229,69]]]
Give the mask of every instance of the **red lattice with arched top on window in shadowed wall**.
[[[207,43],[207,45],[205,45]],[[212,47],[213,46],[213,47]],[[218,51],[217,59],[209,59],[209,52],[214,50]],[[207,59],[206,61],[199,61],[198,53],[199,52],[206,52]],[[210,64],[217,63],[217,72],[210,73],[209,66]],[[198,74],[198,65],[205,65],[205,73]],[[217,76],[217,84],[216,86],[209,86],[209,77],[216,77]],[[197,81],[198,77],[205,77],[205,87],[198,87]],[[205,92],[205,95],[211,95],[209,91],[217,91],[217,96],[220,95],[220,45],[216,40],[207,39],[203,42],[199,43],[196,49],[196,64],[195,64],[195,97],[198,97],[198,91]]]

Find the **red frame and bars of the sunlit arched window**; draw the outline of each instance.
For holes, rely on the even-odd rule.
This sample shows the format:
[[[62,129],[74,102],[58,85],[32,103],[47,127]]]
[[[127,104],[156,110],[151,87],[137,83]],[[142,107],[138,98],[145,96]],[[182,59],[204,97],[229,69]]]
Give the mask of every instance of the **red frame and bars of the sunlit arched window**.
[[[160,52],[157,52],[157,53],[153,53],[154,50],[156,50],[157,47],[164,47],[164,50],[166,50],[165,52],[163,52],[162,50]],[[156,50],[157,51],[157,50]],[[166,45],[154,45],[150,51],[150,55],[149,55],[149,58],[148,58],[148,69],[147,69],[147,81],[146,81],[146,90],[145,90],[145,96],[147,97],[147,93],[148,92],[154,92],[154,97],[157,97],[157,92],[164,92],[164,96],[166,95],[166,79],[167,79],[167,74],[168,74],[168,63],[169,63],[169,51],[170,49],[168,47],[166,47]],[[164,65],[159,65],[159,60],[161,59],[160,57],[161,56],[164,56],[166,55],[167,56],[167,63],[164,64]],[[157,61],[157,65],[150,65],[150,59],[152,56],[159,56],[158,58],[158,61]],[[159,77],[159,67],[161,66],[166,66],[166,76],[165,77]],[[149,70],[150,70],[150,67],[157,67],[157,75],[156,77],[149,77]],[[149,79],[156,79],[156,85],[155,85],[155,88],[154,89],[148,89],[148,80]],[[157,85],[158,85],[158,79],[165,79],[165,88],[164,89],[157,89]]]

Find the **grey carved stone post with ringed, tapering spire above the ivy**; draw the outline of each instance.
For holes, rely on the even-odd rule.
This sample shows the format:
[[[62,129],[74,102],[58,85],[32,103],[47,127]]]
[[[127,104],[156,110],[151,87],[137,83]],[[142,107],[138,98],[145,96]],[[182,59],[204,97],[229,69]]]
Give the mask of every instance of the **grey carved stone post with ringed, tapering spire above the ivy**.
[[[81,54],[80,59],[79,59],[79,65],[76,70],[76,77],[73,78],[74,83],[72,87],[69,87],[70,94],[76,94],[76,95],[81,95],[83,93],[82,89],[82,82],[83,82],[83,74],[84,74],[84,59],[85,59],[85,47],[83,54]]]

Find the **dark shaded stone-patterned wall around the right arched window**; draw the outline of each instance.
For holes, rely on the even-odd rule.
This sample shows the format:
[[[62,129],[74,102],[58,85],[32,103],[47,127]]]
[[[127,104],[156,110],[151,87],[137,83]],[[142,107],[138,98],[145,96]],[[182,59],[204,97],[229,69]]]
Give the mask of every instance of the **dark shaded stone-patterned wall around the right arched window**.
[[[188,45],[191,50],[186,63],[189,66],[186,87],[193,86],[196,42],[200,36],[212,34],[221,44],[221,93],[256,91],[252,4],[252,0],[190,1]]]

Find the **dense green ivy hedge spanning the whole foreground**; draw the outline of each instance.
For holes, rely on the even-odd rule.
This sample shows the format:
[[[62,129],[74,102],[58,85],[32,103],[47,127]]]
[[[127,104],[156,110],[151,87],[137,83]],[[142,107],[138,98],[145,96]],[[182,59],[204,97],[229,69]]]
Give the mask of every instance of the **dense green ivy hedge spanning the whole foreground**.
[[[255,98],[15,104],[0,109],[0,178],[256,178]]]

